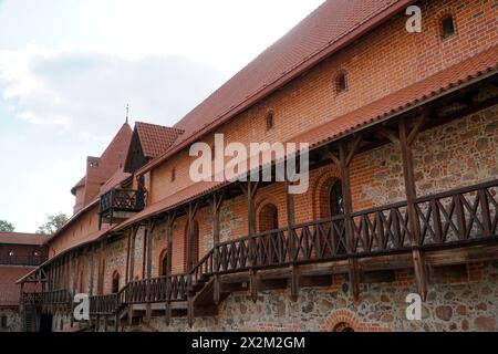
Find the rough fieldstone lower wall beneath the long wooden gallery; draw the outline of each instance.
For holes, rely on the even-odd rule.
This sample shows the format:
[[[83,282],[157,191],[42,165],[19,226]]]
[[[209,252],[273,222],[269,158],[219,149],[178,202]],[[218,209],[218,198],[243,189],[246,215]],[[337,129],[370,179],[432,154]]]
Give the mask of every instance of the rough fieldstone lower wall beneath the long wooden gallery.
[[[256,304],[248,292],[234,293],[217,316],[197,317],[190,331],[333,331],[341,323],[355,331],[498,330],[498,262],[471,266],[463,278],[430,284],[422,321],[405,315],[406,295],[416,292],[411,271],[397,271],[392,283],[362,284],[357,304],[349,288],[336,275],[330,288],[302,289],[298,302],[290,300],[289,289],[260,293]],[[172,326],[156,317],[151,326],[189,331],[186,317],[174,317]]]

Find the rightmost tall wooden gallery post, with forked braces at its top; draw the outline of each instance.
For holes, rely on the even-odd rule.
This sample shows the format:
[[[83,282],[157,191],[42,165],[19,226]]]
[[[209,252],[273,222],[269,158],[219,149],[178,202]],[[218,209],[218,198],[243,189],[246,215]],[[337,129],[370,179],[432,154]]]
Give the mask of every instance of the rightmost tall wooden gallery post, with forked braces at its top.
[[[417,283],[417,290],[423,301],[427,299],[427,269],[424,260],[424,254],[419,249],[421,239],[421,225],[418,222],[417,211],[415,209],[415,199],[417,197],[415,186],[415,173],[413,165],[412,145],[415,137],[421,129],[425,114],[417,121],[415,127],[411,133],[407,131],[406,121],[402,118],[400,121],[400,146],[403,158],[403,176],[405,180],[405,192],[407,200],[407,216],[409,221],[409,232],[412,242],[412,258],[415,270],[415,278]],[[421,122],[421,123],[419,123]]]

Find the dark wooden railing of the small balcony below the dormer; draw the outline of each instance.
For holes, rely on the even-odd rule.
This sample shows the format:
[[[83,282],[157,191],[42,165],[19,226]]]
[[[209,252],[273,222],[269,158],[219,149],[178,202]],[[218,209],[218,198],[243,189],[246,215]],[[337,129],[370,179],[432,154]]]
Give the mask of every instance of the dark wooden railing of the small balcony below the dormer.
[[[101,197],[101,215],[108,211],[137,212],[145,207],[145,194],[143,190],[111,189]]]

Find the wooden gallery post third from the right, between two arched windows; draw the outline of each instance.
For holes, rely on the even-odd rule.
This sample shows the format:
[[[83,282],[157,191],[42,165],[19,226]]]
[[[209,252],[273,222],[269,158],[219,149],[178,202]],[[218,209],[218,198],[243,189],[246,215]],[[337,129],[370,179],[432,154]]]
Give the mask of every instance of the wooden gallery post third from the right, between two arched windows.
[[[295,212],[294,212],[294,197],[290,194],[290,181],[287,176],[286,178],[286,202],[287,202],[287,223],[288,223],[288,242],[289,242],[289,261],[292,262],[291,266],[291,300],[293,302],[298,301],[299,298],[299,270],[297,266],[298,260],[298,244],[294,238],[294,225],[295,225]]]

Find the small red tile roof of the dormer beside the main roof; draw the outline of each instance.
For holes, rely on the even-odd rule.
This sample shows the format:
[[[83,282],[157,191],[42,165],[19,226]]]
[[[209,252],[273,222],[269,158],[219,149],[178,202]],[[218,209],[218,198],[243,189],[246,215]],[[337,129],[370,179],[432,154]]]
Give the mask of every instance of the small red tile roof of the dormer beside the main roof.
[[[147,158],[157,157],[166,152],[184,133],[181,129],[142,122],[135,123],[135,129],[141,139],[144,156]]]

